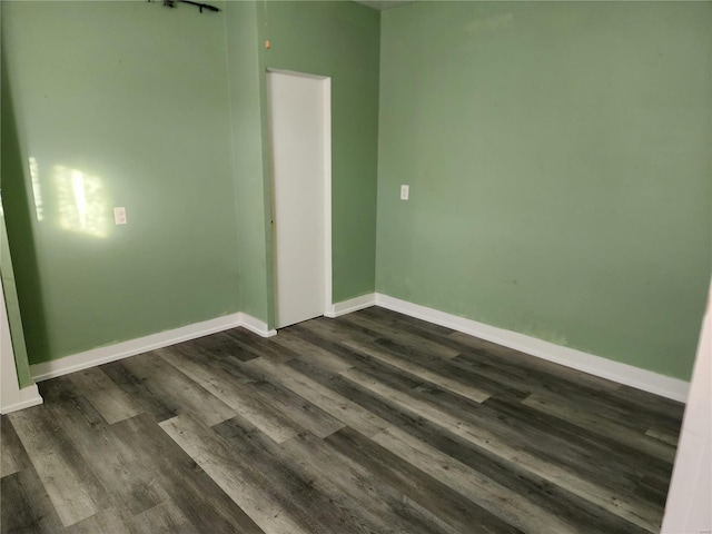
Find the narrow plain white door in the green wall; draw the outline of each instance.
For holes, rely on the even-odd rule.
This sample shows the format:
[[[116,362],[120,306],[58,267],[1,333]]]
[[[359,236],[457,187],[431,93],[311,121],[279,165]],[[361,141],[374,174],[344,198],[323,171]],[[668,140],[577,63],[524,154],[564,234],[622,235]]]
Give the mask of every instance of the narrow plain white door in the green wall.
[[[275,319],[281,328],[324,315],[330,299],[329,80],[268,72],[267,91]]]

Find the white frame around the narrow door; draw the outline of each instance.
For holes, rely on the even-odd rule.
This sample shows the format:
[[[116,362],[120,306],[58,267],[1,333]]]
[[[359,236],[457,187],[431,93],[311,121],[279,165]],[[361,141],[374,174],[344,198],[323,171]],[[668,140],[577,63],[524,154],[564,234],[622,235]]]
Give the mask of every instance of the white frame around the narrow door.
[[[324,315],[327,316],[328,314],[330,314],[333,312],[334,308],[334,304],[332,301],[333,298],[333,281],[332,281],[332,276],[333,276],[333,261],[332,261],[332,78],[328,76],[319,76],[319,75],[310,75],[307,72],[298,72],[295,70],[284,70],[284,69],[271,69],[268,68],[267,72],[266,72],[266,78],[267,75],[270,73],[275,73],[275,75],[286,75],[286,76],[296,76],[299,78],[309,78],[313,80],[320,80],[323,83],[323,88],[324,88],[324,108],[323,108],[323,117],[324,117],[324,122],[323,122],[323,128],[324,128],[324,190],[323,190],[323,200],[324,200]],[[265,80],[267,81],[267,80]],[[267,93],[267,98],[269,98],[269,93]],[[270,166],[271,166],[271,171],[270,171],[270,177],[271,177],[271,184],[270,184],[270,190],[271,192],[271,198],[270,198],[270,202],[271,202],[271,210],[273,212],[275,212],[275,194],[274,194],[274,188],[275,188],[275,169],[274,169],[274,162],[273,162],[273,134],[271,130],[269,130],[269,152],[270,152]],[[273,217],[274,220],[274,217]],[[277,239],[275,238],[275,226],[273,224],[273,228],[271,228],[271,233],[273,233],[273,246],[275,247],[275,250],[277,248]],[[279,255],[278,254],[273,254],[273,258],[278,258]],[[274,261],[274,259],[273,259]],[[275,306],[275,323],[277,320],[277,309],[278,309],[278,298],[279,298],[279,286],[277,285],[276,281],[276,277],[277,277],[277,268],[276,268],[276,264],[273,267],[274,270],[274,275],[273,275],[273,284],[275,287],[275,291],[274,291],[274,306]],[[277,326],[275,325],[275,328],[277,328]]]

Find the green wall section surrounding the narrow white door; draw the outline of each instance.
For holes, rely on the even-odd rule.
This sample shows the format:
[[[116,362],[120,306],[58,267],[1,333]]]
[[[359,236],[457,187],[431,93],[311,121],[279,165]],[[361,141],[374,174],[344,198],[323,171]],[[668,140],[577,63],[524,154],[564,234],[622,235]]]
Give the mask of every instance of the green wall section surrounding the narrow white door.
[[[266,10],[264,2],[257,9],[265,136],[267,69],[332,78],[333,301],[373,293],[379,13],[346,1],[270,1]],[[264,47],[266,39],[270,41],[269,49]],[[264,139],[268,146],[268,138]],[[265,169],[265,181],[269,184],[268,158]],[[271,231],[268,237],[271,239]],[[271,267],[271,256],[268,265]]]

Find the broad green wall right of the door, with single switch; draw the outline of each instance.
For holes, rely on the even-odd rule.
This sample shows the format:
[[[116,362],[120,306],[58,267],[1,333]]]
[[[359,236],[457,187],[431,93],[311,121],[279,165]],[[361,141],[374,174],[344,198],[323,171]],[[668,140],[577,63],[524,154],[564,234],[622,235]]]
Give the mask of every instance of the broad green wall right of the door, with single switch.
[[[377,290],[688,379],[712,3],[416,2],[380,61]]]

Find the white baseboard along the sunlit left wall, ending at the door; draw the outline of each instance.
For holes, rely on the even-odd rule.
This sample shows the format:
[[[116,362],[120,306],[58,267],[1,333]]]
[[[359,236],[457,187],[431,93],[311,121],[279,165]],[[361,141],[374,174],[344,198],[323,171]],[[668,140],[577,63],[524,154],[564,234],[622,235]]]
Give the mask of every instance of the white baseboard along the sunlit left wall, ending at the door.
[[[47,380],[57,376],[67,375],[77,370],[88,369],[117,359],[128,358],[137,354],[154,350],[156,348],[168,347],[177,343],[187,342],[197,337],[215,334],[216,332],[227,330],[243,326],[255,334],[263,337],[270,337],[277,334],[276,330],[269,330],[267,325],[255,317],[244,314],[230,314],[215,319],[195,323],[192,325],[181,326],[172,330],[160,332],[149,336],[130,339],[128,342],[117,343],[105,347],[97,347],[90,350],[65,356],[63,358],[53,359],[51,362],[42,362],[41,364],[30,365],[30,374],[34,382]]]

